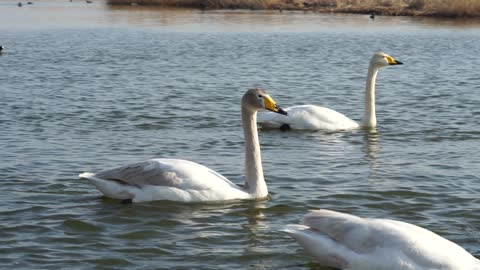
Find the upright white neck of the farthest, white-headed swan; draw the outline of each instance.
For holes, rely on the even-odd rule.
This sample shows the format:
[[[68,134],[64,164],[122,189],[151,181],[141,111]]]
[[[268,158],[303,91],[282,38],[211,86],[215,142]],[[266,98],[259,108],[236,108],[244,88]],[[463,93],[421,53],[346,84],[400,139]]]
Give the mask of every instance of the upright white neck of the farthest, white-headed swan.
[[[377,79],[378,67],[370,65],[368,68],[367,85],[365,86],[365,111],[362,126],[373,128],[377,126],[375,113],[375,80]]]

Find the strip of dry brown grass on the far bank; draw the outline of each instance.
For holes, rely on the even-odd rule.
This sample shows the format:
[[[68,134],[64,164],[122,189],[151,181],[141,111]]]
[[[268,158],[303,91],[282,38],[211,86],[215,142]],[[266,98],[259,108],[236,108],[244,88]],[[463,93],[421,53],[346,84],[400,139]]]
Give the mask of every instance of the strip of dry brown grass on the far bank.
[[[209,9],[293,9],[383,15],[480,17],[480,0],[107,0]]]

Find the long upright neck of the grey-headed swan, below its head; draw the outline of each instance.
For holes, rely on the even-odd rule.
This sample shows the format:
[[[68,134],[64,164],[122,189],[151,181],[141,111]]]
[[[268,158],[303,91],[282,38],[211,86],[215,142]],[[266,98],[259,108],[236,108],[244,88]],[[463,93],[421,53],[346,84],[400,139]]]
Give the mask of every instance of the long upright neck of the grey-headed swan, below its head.
[[[257,112],[242,107],[242,122],[245,136],[245,189],[254,198],[263,198],[268,195],[268,189],[263,178]]]

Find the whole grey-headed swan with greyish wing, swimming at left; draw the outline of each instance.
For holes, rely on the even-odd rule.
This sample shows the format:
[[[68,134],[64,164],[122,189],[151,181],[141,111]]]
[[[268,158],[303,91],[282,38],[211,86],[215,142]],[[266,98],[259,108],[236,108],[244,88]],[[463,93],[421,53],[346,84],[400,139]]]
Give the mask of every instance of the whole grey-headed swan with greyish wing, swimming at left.
[[[150,159],[95,174],[82,173],[79,177],[89,180],[105,196],[129,202],[209,202],[266,198],[268,189],[263,178],[256,123],[257,111],[262,109],[286,114],[265,90],[250,89],[244,94],[244,187],[235,185],[214,170],[183,159]]]

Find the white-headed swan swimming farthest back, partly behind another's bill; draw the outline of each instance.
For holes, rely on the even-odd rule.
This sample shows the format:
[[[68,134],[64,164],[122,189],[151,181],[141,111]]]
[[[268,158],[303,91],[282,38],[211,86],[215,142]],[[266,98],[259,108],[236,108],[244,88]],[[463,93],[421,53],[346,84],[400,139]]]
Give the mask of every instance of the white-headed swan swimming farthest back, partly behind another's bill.
[[[374,128],[377,125],[375,115],[375,80],[378,70],[391,65],[402,65],[390,55],[377,52],[373,55],[368,68],[367,84],[365,87],[365,112],[361,124],[345,115],[325,107],[315,105],[298,105],[285,108],[288,116],[273,113],[262,114],[258,117],[259,125],[263,128],[302,129],[302,130],[350,130],[360,126]]]

